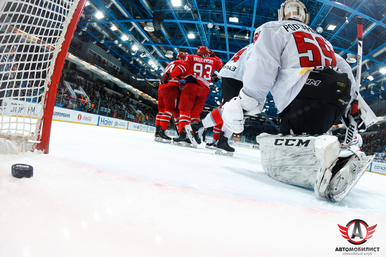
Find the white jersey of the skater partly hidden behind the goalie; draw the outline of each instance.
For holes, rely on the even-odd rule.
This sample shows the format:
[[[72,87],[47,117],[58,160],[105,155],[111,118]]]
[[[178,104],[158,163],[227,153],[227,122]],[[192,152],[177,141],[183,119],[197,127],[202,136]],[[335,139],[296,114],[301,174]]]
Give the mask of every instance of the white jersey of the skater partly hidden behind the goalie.
[[[218,78],[234,78],[242,81],[245,73],[245,63],[251,56],[253,44],[249,44],[237,52],[221,69]]]

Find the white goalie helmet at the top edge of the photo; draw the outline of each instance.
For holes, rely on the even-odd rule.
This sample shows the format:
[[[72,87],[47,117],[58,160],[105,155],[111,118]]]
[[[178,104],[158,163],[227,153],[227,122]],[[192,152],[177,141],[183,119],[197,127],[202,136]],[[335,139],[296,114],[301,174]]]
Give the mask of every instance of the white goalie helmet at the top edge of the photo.
[[[286,0],[280,5],[279,20],[295,19],[304,24],[308,24],[310,14],[307,12],[305,5],[299,0]]]

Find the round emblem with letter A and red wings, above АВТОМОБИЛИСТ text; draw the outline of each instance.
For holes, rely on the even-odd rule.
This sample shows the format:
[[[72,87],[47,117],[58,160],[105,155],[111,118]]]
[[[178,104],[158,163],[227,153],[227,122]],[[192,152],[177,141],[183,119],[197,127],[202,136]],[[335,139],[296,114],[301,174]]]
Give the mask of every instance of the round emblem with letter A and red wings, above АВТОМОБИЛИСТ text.
[[[375,224],[374,226],[369,227],[363,220],[352,220],[347,223],[346,227],[339,224],[338,227],[343,238],[347,239],[347,241],[353,245],[361,245],[366,242],[367,239],[372,237],[377,225],[378,224]]]

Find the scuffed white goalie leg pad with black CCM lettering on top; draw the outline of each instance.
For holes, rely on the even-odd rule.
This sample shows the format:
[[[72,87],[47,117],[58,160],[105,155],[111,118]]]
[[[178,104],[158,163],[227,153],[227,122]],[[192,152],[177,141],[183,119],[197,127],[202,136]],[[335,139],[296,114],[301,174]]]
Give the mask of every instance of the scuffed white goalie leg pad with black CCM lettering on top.
[[[315,188],[318,171],[322,168],[315,154],[315,143],[317,145],[337,145],[338,153],[334,161],[339,154],[337,137],[330,135],[269,135],[262,133],[256,137],[256,140],[260,144],[261,165],[268,176],[287,184],[307,188]],[[324,166],[330,162],[326,161]]]

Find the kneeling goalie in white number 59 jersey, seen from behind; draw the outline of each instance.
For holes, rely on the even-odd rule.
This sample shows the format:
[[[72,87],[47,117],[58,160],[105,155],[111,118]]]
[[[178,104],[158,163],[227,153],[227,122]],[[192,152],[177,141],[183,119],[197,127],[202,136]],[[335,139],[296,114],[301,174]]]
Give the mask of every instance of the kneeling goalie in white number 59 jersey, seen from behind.
[[[350,66],[306,25],[308,19],[303,3],[287,0],[279,21],[256,29],[244,86],[225,103],[222,119],[231,131],[242,132],[244,115],[261,112],[271,91],[281,134],[257,137],[264,170],[284,183],[314,188],[319,199],[340,201],[371,158],[354,146],[342,150],[336,137],[322,135],[347,115],[356,84]]]

